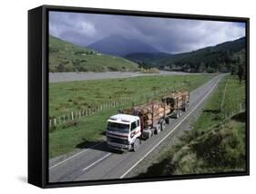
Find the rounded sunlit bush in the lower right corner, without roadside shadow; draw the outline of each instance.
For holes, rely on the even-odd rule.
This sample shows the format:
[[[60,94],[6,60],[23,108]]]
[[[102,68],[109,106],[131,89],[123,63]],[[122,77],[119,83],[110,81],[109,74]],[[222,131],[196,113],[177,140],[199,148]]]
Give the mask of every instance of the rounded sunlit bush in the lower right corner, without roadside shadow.
[[[179,145],[173,147],[166,174],[245,169],[244,140],[239,131],[228,124],[207,132],[188,131],[179,141]]]

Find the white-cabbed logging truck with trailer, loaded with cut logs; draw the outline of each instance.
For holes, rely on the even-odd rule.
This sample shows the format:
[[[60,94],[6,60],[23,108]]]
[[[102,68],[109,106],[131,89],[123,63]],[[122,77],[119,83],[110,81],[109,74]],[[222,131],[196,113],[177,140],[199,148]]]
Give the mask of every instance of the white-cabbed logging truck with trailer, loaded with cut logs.
[[[163,96],[160,101],[120,110],[108,119],[108,147],[137,151],[141,141],[164,131],[170,118],[178,119],[188,107],[189,92],[175,91]]]

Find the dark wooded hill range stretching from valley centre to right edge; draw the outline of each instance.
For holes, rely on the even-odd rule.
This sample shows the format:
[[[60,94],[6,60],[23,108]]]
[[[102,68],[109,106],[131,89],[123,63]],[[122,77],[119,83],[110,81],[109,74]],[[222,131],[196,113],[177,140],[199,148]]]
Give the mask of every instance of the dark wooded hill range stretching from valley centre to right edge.
[[[192,73],[234,73],[240,64],[245,64],[245,46],[245,37],[242,37],[189,53],[130,53],[125,57],[143,67]]]

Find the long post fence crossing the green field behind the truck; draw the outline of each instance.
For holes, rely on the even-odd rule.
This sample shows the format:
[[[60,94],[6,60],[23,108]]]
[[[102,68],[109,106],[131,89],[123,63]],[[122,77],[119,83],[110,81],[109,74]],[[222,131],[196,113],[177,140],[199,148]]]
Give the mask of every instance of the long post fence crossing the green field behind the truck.
[[[81,110],[78,110],[78,111],[72,111],[72,112],[69,112],[67,114],[63,114],[61,116],[57,116],[57,117],[49,119],[49,123],[48,123],[49,128],[50,129],[51,128],[56,128],[57,126],[59,126],[61,124],[67,123],[68,121],[77,121],[81,117],[89,117],[89,116],[92,116],[94,114],[97,114],[98,112],[103,112],[103,111],[106,111],[106,110],[109,110],[109,109],[118,108],[120,106],[124,106],[124,105],[128,105],[128,104],[133,106],[133,105],[138,104],[140,102],[149,102],[149,101],[152,101],[152,100],[156,100],[157,98],[167,94],[168,92],[175,91],[178,88],[179,89],[182,88],[184,85],[185,85],[184,83],[179,83],[179,84],[176,84],[173,87],[161,88],[159,90],[143,93],[143,94],[135,96],[135,97],[119,98],[119,99],[116,99],[116,100],[111,101],[111,102],[105,102],[105,103],[102,103],[102,104],[100,104],[96,107],[93,107],[93,108],[87,108],[87,109],[81,109]]]

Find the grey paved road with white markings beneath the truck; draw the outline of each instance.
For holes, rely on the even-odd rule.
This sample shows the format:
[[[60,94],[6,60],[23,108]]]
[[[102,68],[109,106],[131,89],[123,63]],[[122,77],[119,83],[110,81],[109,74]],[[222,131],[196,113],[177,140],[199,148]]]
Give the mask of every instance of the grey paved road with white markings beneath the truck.
[[[105,141],[99,142],[66,160],[57,162],[51,160],[49,162],[49,181],[128,178],[129,173],[139,165],[140,161],[159,147],[160,143],[163,143],[173,131],[179,128],[183,121],[207,101],[223,76],[223,74],[218,75],[195,91],[190,92],[189,111],[184,112],[179,120],[173,119],[167,126],[167,130],[161,131],[159,135],[153,136],[148,141],[142,141],[137,152],[128,151],[120,154],[108,149]]]

